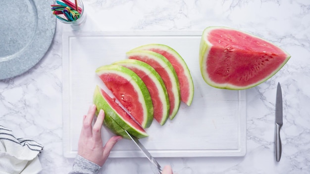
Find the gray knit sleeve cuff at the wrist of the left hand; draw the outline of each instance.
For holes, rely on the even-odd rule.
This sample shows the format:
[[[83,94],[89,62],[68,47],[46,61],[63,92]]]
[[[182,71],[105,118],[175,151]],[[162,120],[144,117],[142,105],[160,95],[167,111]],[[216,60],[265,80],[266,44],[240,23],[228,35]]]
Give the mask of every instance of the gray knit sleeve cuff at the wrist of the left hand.
[[[69,174],[98,174],[100,169],[101,167],[97,164],[77,155]]]

